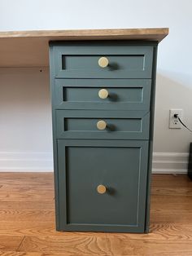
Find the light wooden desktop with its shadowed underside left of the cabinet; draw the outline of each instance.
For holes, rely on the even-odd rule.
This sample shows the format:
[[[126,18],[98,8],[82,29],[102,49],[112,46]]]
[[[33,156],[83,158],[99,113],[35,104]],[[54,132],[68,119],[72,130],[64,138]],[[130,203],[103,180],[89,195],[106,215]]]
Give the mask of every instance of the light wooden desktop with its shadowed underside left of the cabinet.
[[[69,40],[142,40],[160,42],[159,29],[79,29],[0,32],[0,67],[49,66],[49,42]]]

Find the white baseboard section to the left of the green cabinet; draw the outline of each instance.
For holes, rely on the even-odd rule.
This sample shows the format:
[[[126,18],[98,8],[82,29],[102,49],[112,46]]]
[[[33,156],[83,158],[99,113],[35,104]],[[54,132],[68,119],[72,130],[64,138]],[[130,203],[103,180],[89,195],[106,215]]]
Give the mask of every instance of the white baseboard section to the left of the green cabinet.
[[[53,171],[51,152],[0,152],[0,171]]]

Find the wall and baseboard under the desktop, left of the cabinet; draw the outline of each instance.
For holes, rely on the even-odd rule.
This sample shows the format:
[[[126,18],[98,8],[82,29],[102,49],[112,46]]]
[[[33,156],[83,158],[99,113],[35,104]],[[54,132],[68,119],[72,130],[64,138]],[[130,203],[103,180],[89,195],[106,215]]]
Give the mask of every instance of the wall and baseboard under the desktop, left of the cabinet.
[[[53,170],[48,68],[0,68],[0,170]]]

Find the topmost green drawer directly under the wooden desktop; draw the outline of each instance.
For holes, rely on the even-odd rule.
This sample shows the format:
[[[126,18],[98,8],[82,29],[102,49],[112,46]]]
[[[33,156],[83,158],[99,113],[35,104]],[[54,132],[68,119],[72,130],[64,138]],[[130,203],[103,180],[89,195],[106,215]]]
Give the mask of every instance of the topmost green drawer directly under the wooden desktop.
[[[151,78],[153,46],[63,43],[51,49],[55,78]],[[102,57],[106,67],[99,65]]]

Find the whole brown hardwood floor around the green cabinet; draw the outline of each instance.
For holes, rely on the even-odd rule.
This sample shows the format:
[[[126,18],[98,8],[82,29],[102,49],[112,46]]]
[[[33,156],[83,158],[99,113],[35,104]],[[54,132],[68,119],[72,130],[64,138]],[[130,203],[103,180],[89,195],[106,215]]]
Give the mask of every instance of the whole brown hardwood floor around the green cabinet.
[[[0,173],[0,255],[192,255],[192,181],[153,175],[149,234],[55,232],[53,174]]]

